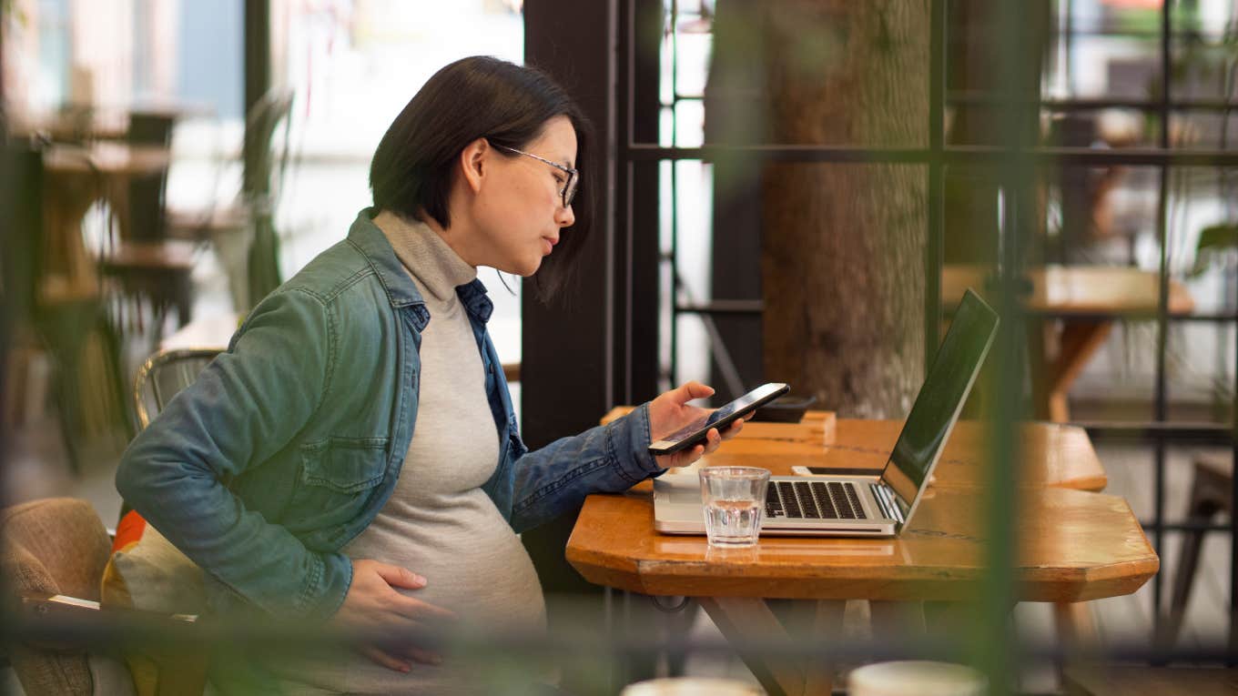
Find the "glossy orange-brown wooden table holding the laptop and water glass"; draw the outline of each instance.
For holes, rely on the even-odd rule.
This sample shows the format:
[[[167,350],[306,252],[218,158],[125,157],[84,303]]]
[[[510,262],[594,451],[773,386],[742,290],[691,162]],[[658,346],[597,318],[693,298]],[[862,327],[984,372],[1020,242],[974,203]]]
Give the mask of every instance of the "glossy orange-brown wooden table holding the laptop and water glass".
[[[621,412],[612,411],[608,419]],[[796,463],[808,463],[805,459],[879,467],[899,426],[828,414],[820,425],[748,424],[707,463],[766,466],[774,473],[787,473]],[[1070,607],[1135,592],[1160,562],[1125,500],[1087,490],[1103,487],[1104,473],[1086,433],[1051,424],[1029,424],[1020,432],[1026,476],[1015,568],[1019,599]],[[818,433],[822,440],[815,442]],[[770,598],[803,601],[796,613],[816,634],[841,635],[847,599],[868,601],[879,629],[905,627],[909,607],[915,616],[920,602],[973,598],[987,572],[976,504],[983,490],[982,433],[980,424],[959,424],[936,482],[898,539],[766,536],[750,551],[718,552],[703,536],[655,533],[651,485],[641,484],[625,494],[586,500],[567,560],[598,585],[695,597],[737,643],[740,637],[787,638],[766,602]],[[829,692],[827,660],[773,660],[743,651],[740,656],[770,694]]]

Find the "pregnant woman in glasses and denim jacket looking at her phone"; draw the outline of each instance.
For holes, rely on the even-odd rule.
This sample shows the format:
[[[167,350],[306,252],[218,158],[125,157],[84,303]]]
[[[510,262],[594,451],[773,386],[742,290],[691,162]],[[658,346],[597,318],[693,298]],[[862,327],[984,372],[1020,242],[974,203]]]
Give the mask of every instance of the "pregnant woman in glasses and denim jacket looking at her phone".
[[[295,661],[222,649],[218,691],[478,692],[484,665],[412,637],[451,622],[536,639],[545,604],[516,534],[742,427],[650,456],[706,412],[687,402],[712,390],[688,383],[535,452],[520,441],[478,266],[567,291],[589,136],[536,69],[442,68],[374,154],[374,206],[125,452],[120,493],[203,568],[213,613],[391,638]]]

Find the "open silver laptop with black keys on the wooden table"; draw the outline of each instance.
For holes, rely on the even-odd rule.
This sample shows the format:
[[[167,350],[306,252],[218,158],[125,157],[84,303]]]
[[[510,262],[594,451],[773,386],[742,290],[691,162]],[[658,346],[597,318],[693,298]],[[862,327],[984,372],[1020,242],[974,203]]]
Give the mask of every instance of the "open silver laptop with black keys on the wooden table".
[[[770,477],[761,534],[896,536],[911,523],[997,326],[997,312],[964,292],[881,474]],[[696,473],[654,479],[654,529],[704,534]]]

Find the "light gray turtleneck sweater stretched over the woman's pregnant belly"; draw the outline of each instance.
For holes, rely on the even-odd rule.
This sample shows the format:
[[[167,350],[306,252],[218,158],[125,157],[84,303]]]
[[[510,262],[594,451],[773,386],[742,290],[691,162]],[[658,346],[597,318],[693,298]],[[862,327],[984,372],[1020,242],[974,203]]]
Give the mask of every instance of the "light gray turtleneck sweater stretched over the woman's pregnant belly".
[[[386,234],[430,310],[421,334],[417,422],[390,500],[344,547],[352,559],[407,567],[427,578],[402,591],[452,609],[485,635],[531,638],[546,630],[541,585],[520,539],[482,490],[499,463],[499,435],[485,396],[485,375],[456,287],[477,277],[432,229],[384,212]],[[290,692],[482,694],[493,656],[447,654],[441,666],[411,674],[360,655],[298,664],[285,671]],[[321,690],[321,691],[318,691]]]

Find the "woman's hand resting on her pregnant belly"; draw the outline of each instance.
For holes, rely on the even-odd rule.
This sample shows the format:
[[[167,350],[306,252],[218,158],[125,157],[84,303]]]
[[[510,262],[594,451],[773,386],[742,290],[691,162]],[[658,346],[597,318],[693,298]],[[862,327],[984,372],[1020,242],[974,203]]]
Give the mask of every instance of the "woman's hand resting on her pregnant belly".
[[[348,630],[387,638],[381,645],[360,646],[363,655],[396,671],[410,671],[413,660],[427,665],[442,661],[439,655],[412,640],[456,619],[442,607],[407,597],[396,591],[421,589],[426,578],[400,566],[368,559],[353,561],[353,583],[333,622]]]

